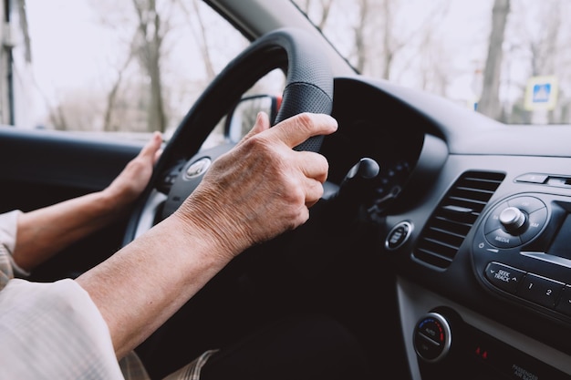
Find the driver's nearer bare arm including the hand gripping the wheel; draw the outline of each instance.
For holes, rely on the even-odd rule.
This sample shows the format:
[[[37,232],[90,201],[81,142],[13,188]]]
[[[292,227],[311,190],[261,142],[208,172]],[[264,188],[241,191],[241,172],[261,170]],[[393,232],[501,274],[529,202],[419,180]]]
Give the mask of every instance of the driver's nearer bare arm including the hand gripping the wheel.
[[[337,129],[302,114],[265,114],[217,159],[181,208],[76,280],[109,325],[120,357],[140,344],[247,247],[295,229],[323,195],[327,160],[292,149]],[[244,222],[236,222],[244,221]]]

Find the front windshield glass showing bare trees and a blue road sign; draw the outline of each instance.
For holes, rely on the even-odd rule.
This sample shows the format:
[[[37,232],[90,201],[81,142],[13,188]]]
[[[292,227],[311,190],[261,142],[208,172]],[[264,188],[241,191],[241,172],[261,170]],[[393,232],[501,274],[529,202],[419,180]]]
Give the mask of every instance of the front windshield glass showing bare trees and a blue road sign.
[[[509,124],[568,124],[568,0],[293,0],[370,77]]]

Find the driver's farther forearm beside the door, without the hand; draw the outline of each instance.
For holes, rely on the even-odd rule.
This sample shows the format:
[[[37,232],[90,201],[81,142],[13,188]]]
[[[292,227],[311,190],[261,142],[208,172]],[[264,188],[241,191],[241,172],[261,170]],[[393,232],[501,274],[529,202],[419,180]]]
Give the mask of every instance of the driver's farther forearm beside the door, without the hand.
[[[14,260],[30,271],[69,244],[117,220],[124,211],[104,190],[24,212],[17,221]]]

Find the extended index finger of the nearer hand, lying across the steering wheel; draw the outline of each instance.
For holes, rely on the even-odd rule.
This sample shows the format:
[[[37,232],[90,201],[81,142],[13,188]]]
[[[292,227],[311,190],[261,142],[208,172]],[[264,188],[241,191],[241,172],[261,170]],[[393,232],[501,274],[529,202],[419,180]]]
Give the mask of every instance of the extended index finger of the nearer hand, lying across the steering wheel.
[[[337,130],[337,120],[326,114],[301,113],[270,129],[278,139],[294,148],[313,136],[329,135]]]

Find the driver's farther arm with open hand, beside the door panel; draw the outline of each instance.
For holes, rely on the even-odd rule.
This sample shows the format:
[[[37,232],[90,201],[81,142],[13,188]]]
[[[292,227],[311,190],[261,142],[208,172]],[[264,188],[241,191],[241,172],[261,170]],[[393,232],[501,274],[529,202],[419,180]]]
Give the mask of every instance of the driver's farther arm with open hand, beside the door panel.
[[[124,216],[151,178],[160,148],[161,134],[155,133],[105,190],[20,214],[13,252],[16,264],[30,271],[69,244]]]

